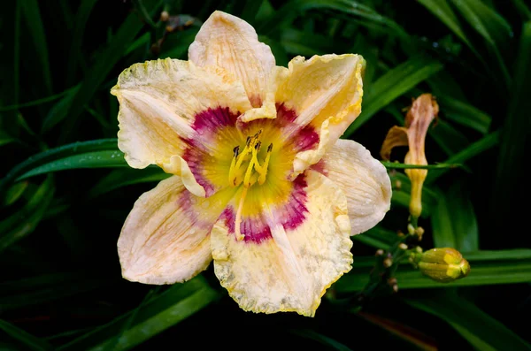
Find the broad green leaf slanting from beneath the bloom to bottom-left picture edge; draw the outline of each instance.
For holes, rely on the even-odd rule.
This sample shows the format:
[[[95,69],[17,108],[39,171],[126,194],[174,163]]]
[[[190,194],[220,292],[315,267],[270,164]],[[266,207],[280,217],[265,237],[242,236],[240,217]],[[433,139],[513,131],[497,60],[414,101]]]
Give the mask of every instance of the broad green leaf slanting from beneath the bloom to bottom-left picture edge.
[[[130,311],[57,350],[127,350],[180,323],[218,297],[219,294],[208,286],[203,277],[198,276],[187,283],[171,286],[137,311]],[[133,320],[129,320],[133,313]],[[127,323],[129,325],[124,328]]]

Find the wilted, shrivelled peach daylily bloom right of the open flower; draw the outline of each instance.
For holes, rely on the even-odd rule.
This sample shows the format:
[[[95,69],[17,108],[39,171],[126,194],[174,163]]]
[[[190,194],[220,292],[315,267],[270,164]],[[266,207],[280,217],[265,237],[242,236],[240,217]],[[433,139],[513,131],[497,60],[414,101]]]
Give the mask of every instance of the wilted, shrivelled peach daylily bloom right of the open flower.
[[[381,158],[389,160],[393,148],[409,145],[404,163],[427,165],[424,153],[427,128],[438,113],[439,105],[431,94],[422,94],[417,97],[407,111],[405,126],[393,126],[389,129],[381,146]],[[427,170],[406,169],[405,174],[412,182],[410,213],[413,217],[419,217],[422,212],[422,186],[427,177]]]

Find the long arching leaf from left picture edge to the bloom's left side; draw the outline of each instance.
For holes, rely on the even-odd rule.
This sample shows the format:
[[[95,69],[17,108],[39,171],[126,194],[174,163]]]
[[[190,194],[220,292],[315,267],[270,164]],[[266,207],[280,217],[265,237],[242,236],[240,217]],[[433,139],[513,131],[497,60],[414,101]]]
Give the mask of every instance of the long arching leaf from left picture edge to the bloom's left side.
[[[76,156],[89,152],[96,151],[116,151],[118,141],[116,139],[100,139],[95,141],[78,141],[72,144],[63,145],[56,149],[50,149],[41,152],[27,158],[26,161],[16,165],[11,172],[0,181],[0,194],[4,191],[5,187],[11,185],[15,179],[18,179],[21,175],[27,172],[31,172],[33,169],[48,164],[52,161],[56,161],[68,156]]]

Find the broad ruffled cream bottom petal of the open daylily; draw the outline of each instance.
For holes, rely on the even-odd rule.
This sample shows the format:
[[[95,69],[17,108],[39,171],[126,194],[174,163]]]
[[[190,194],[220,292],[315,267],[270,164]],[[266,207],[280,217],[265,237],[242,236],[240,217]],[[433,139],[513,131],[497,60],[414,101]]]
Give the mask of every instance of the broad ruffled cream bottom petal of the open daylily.
[[[306,172],[304,181],[295,210],[273,206],[261,214],[255,224],[265,228],[260,240],[236,240],[227,217],[212,228],[214,271],[242,309],[312,317],[327,288],[350,271],[345,195],[319,172]],[[301,205],[304,217],[297,222]],[[242,225],[242,233],[250,228]]]

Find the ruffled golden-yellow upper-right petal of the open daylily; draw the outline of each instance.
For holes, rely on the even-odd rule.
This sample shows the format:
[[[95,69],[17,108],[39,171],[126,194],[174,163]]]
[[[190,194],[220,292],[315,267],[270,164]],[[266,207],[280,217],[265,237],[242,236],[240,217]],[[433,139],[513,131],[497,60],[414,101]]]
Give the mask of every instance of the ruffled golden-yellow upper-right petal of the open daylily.
[[[359,55],[295,57],[289,62],[289,75],[279,86],[276,101],[296,112],[295,126],[314,126],[327,138],[319,140],[319,152],[299,156],[305,165],[319,162],[361,112],[365,60]],[[326,123],[325,123],[326,122]],[[302,164],[299,164],[301,166]]]

